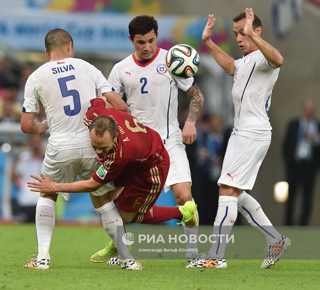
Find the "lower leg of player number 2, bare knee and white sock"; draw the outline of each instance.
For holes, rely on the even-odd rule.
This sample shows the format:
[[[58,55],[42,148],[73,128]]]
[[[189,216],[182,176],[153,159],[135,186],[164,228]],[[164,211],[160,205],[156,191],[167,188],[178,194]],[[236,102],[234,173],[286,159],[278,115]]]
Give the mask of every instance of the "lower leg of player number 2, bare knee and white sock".
[[[194,200],[192,198],[191,194],[191,183],[190,182],[182,182],[182,183],[176,183],[171,185],[171,189],[173,192],[173,196],[177,202],[178,207],[185,204],[186,201],[190,200],[194,203]],[[198,221],[196,225],[188,225],[186,223],[182,223],[183,232],[187,237],[190,237],[190,235],[193,235],[191,237],[195,237],[198,239],[198,225],[199,225],[199,215],[198,210],[196,210],[196,216],[198,217]],[[197,242],[196,243],[190,243],[189,239],[186,242],[187,249],[197,249]],[[199,258],[197,251],[187,251],[186,254],[188,263],[194,263]]]

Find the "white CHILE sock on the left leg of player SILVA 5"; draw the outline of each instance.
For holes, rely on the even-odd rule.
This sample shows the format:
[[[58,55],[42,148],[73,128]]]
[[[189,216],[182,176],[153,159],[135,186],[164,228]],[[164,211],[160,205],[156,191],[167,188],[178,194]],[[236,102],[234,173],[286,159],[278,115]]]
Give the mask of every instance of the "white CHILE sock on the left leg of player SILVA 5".
[[[38,259],[50,258],[49,248],[56,221],[56,202],[39,197],[36,206],[36,232],[38,242]]]

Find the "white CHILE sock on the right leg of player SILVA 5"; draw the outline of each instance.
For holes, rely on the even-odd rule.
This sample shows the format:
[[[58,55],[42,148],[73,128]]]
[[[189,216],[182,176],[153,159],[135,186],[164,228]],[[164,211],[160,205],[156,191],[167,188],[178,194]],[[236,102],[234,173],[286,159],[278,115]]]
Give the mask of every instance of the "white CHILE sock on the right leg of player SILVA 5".
[[[133,259],[128,246],[122,241],[122,237],[125,233],[123,220],[113,200],[95,210],[100,214],[103,227],[115,244],[120,260]]]

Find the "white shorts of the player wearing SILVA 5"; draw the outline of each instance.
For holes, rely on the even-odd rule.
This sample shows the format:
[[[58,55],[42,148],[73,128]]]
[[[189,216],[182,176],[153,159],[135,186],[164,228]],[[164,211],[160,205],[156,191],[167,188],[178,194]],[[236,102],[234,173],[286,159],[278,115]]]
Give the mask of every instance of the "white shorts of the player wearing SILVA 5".
[[[100,166],[95,158],[96,156],[97,154],[91,146],[60,151],[54,151],[47,147],[41,172],[44,176],[51,178],[57,183],[74,182],[77,176],[81,180],[88,180]],[[95,196],[101,196],[114,188],[113,183],[106,184],[91,193]],[[70,200],[71,193],[57,193],[62,195],[65,200]]]

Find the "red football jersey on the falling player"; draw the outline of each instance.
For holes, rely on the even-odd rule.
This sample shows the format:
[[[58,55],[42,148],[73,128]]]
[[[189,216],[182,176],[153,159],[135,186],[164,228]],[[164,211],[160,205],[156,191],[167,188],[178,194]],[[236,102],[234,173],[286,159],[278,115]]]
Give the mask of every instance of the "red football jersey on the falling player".
[[[91,100],[90,104],[84,116],[86,126],[89,127],[95,117],[107,115],[116,121],[118,127],[118,136],[113,148],[104,156],[103,166],[92,175],[95,181],[108,183],[124,170],[134,174],[136,170],[154,167],[163,160],[164,154],[168,154],[160,135],[155,130],[143,126],[132,115],[114,108],[106,108],[106,103],[101,98]]]

